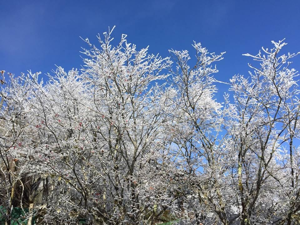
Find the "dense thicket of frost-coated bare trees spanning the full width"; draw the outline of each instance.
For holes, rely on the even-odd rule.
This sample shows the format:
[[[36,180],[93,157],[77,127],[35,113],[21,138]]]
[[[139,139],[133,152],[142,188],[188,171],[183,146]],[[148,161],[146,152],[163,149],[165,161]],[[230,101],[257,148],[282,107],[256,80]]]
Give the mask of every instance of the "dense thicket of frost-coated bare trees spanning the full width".
[[[299,223],[296,54],[247,54],[259,66],[219,103],[224,53],[161,58],[111,33],[85,40],[80,71],[1,79],[3,221],[20,207],[28,224]]]

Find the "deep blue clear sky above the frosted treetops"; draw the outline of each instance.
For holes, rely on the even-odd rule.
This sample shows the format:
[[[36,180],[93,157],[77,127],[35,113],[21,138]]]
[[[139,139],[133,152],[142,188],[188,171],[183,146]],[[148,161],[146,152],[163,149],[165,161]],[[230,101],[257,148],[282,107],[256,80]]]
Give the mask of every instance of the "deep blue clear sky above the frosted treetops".
[[[80,68],[80,47],[87,45],[79,36],[97,44],[96,35],[116,25],[115,39],[128,34],[138,48],[149,45],[150,53],[162,56],[170,48],[191,50],[193,40],[211,52],[226,51],[215,77],[228,81],[247,74],[250,58],[242,53],[272,47],[271,40],[285,37],[286,51],[300,51],[299,22],[300,1],[2,0],[0,70],[18,75],[51,72],[54,64]],[[300,70],[300,56],[293,61]]]

